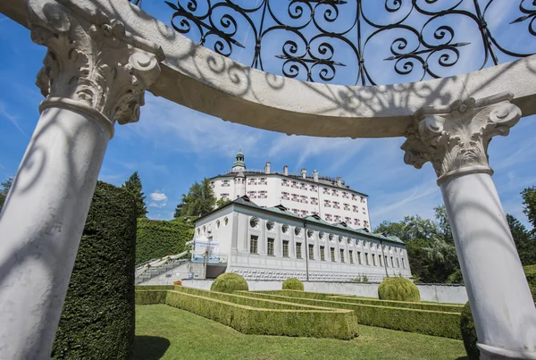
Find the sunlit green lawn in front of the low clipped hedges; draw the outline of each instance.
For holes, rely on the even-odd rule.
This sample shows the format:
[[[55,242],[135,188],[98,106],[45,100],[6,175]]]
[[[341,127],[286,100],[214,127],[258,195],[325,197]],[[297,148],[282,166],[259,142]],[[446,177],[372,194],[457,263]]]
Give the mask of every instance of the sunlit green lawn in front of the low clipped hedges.
[[[359,338],[245,335],[165,305],[136,306],[136,360],[157,359],[465,359],[460,340],[359,327]]]

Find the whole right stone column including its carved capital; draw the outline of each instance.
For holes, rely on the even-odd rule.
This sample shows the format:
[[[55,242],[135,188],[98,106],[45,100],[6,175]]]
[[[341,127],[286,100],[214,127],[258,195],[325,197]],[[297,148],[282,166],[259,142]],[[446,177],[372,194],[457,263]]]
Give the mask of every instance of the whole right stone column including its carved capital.
[[[487,149],[521,116],[510,94],[415,114],[404,160],[438,175],[482,359],[536,359],[536,307],[491,180]]]

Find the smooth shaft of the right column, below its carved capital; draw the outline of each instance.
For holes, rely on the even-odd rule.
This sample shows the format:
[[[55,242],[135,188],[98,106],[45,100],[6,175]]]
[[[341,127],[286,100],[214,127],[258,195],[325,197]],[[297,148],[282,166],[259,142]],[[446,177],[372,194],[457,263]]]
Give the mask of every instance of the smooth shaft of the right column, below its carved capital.
[[[487,173],[466,174],[440,188],[479,343],[525,358],[536,350],[536,307],[493,180]]]

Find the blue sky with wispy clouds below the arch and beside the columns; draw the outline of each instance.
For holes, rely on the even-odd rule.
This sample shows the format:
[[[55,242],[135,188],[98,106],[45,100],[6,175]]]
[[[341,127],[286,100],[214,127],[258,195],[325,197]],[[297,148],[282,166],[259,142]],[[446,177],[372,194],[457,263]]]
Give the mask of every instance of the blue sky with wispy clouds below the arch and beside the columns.
[[[151,8],[151,4],[158,6]],[[169,23],[165,6],[149,0],[144,3],[147,13]],[[519,43],[517,33],[511,31],[510,36],[512,44]],[[534,42],[532,38],[532,45]],[[38,121],[43,96],[34,84],[46,49],[30,41],[28,29],[2,16],[0,52],[0,180],[4,180],[16,172]],[[466,58],[475,58],[467,54]],[[248,63],[247,54],[240,56],[244,59],[239,60]],[[471,71],[474,63],[462,65]],[[392,69],[392,64],[389,66]],[[396,82],[393,78],[382,81]],[[154,219],[171,219],[181,194],[195,180],[229,170],[240,146],[248,168],[263,169],[270,161],[276,171],[287,164],[291,172],[305,167],[308,172],[341,176],[351,188],[369,195],[373,227],[415,213],[433,217],[433,207],[442,204],[431,165],[416,170],[404,163],[399,148],[404,138],[289,137],[222,121],[150,93],[140,121],[115,129],[99,179],[121,185],[138,171],[147,195],[148,216]],[[519,193],[536,185],[534,133],[534,117],[525,117],[509,136],[494,138],[489,151],[505,211],[525,224]]]

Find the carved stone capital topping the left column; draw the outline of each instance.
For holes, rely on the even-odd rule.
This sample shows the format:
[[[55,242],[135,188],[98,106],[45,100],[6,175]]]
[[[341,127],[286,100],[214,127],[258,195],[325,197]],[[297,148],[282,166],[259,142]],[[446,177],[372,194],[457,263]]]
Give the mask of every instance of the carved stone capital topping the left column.
[[[121,21],[64,0],[29,0],[31,38],[48,47],[37,85],[50,106],[76,108],[113,134],[139,119],[145,89],[159,76],[159,46],[125,31]]]

